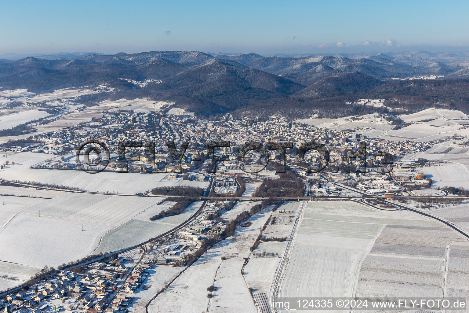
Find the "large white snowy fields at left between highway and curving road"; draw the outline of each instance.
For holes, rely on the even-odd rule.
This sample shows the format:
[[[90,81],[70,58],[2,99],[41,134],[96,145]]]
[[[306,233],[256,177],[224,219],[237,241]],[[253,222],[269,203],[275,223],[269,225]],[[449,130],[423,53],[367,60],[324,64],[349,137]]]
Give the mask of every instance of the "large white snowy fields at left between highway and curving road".
[[[0,246],[0,260],[40,268],[157,237],[189,218],[202,203],[194,202],[182,214],[149,221],[149,216],[168,207],[158,206],[162,198],[80,193],[63,193],[52,199],[4,198],[0,210],[5,214],[0,222],[8,222],[0,230],[0,240],[5,243]],[[139,214],[149,216],[133,219]]]

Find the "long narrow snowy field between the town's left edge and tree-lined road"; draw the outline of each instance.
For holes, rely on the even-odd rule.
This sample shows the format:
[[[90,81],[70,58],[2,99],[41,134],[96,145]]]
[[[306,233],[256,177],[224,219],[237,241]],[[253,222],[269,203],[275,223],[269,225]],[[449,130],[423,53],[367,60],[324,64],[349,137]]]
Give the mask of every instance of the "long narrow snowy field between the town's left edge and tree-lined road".
[[[10,155],[8,160],[15,165],[9,165],[0,170],[0,178],[19,180],[23,182],[40,182],[68,187],[77,187],[86,191],[118,192],[123,194],[136,194],[150,191],[162,186],[193,186],[208,187],[208,182],[186,181],[182,178],[162,181],[167,174],[139,174],[139,173],[113,173],[101,172],[89,174],[75,170],[36,169],[30,168],[41,161],[53,156],[44,153],[16,153]],[[6,159],[0,157],[0,162]]]

